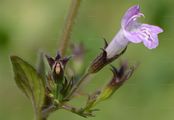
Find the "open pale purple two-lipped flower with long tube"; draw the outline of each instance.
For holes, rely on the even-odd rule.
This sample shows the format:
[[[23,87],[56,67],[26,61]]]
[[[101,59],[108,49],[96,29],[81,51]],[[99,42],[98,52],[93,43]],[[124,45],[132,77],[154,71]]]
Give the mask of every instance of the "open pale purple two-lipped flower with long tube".
[[[137,18],[144,16],[140,13],[139,5],[127,10],[121,21],[121,29],[105,49],[107,58],[119,54],[128,43],[143,43],[147,48],[153,49],[158,46],[158,34],[163,30],[154,25],[142,24]]]

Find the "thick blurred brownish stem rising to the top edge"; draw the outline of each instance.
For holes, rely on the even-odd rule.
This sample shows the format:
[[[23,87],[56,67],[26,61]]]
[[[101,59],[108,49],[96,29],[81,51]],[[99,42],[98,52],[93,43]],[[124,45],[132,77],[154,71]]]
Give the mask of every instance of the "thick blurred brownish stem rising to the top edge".
[[[63,30],[62,38],[61,38],[62,43],[60,46],[61,47],[60,53],[62,54],[62,56],[64,56],[66,54],[66,50],[67,50],[67,47],[68,47],[68,44],[70,41],[69,39],[71,36],[71,30],[73,27],[74,20],[78,13],[80,3],[81,3],[81,0],[72,0],[71,6],[69,9],[69,13],[67,16],[66,24],[65,24],[65,27]]]

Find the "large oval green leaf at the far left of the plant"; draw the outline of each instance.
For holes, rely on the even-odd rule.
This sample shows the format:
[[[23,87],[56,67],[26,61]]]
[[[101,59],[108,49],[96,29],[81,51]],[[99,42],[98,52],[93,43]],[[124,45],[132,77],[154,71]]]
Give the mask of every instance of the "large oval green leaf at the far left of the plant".
[[[16,84],[32,101],[37,114],[42,108],[45,96],[42,77],[30,64],[17,56],[11,56],[11,62]]]

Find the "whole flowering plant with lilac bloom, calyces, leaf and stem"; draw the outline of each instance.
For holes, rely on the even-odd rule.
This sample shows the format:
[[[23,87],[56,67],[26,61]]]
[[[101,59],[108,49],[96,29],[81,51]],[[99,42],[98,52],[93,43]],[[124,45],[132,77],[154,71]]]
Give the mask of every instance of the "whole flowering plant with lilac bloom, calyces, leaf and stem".
[[[73,54],[66,56],[69,38],[74,19],[77,16],[81,0],[72,0],[72,5],[67,17],[67,22],[61,39],[61,47],[55,57],[41,53],[37,68],[18,56],[11,56],[15,81],[18,88],[31,100],[36,120],[46,120],[48,116],[57,110],[65,109],[82,117],[92,117],[96,104],[109,99],[133,74],[136,65],[127,62],[120,63],[119,67],[111,66],[113,76],[108,83],[97,88],[88,95],[86,104],[77,108],[70,104],[76,97],[82,83],[91,75],[100,72],[101,69],[118,59],[127,50],[130,43],[143,43],[148,49],[158,46],[158,34],[163,30],[154,25],[142,24],[137,21],[141,16],[139,5],[129,8],[121,20],[121,29],[108,44],[106,40],[102,52],[96,55],[86,70],[80,69],[85,50],[81,45],[72,47]],[[45,60],[49,65],[46,73]],[[67,64],[76,62],[75,68]],[[80,61],[80,62],[79,62]],[[69,74],[67,69],[74,70]],[[76,73],[80,70],[79,73]],[[83,75],[81,74],[83,73]],[[85,86],[84,86],[85,87]]]

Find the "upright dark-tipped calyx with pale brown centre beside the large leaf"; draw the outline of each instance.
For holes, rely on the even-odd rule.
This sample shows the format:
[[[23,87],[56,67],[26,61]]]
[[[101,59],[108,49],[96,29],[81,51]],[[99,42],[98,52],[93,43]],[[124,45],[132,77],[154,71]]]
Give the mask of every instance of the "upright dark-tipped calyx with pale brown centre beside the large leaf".
[[[64,101],[73,85],[73,80],[68,81],[64,75],[66,63],[70,57],[62,58],[58,53],[55,58],[48,55],[46,58],[51,68],[51,73],[48,74],[46,81],[48,95],[53,95],[53,98],[58,102]]]

